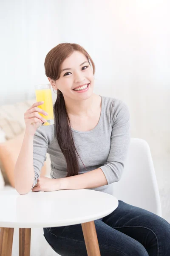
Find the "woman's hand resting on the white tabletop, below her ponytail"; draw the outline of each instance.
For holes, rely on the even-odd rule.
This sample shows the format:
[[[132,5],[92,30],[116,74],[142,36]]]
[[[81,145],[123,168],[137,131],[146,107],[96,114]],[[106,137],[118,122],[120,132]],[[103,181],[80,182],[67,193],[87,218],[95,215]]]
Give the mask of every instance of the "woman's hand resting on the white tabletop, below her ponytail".
[[[38,178],[38,183],[32,189],[35,191],[55,191],[60,189],[60,180],[59,179],[51,179],[45,176]]]

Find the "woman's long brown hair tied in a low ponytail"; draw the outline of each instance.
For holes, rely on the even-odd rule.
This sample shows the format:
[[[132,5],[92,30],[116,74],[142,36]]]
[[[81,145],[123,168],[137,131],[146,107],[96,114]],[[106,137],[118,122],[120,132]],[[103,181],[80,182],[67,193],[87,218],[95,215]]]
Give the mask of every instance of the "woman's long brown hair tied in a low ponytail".
[[[81,47],[79,44],[62,43],[51,49],[51,51],[49,51],[46,55],[44,62],[45,75],[55,81],[59,79],[62,62],[74,51],[79,51],[86,56],[88,63],[90,65],[92,64],[93,73],[95,73],[94,62],[83,47]],[[54,104],[54,119],[55,137],[58,140],[59,147],[64,154],[67,163],[68,173],[66,177],[78,175],[79,164],[77,155],[79,156],[79,154],[77,153],[74,145],[70,119],[65,108],[64,96],[60,90],[57,90],[57,99]]]

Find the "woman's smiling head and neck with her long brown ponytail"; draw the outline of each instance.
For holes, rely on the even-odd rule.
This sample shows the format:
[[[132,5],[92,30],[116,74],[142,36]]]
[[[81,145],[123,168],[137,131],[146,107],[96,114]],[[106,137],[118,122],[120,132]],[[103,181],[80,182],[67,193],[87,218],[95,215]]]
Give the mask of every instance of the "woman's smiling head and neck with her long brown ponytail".
[[[59,44],[45,58],[45,74],[52,87],[57,90],[54,105],[56,137],[67,162],[67,177],[79,172],[70,116],[87,111],[93,101],[96,102],[98,97],[93,93],[94,72],[93,60],[78,44]]]

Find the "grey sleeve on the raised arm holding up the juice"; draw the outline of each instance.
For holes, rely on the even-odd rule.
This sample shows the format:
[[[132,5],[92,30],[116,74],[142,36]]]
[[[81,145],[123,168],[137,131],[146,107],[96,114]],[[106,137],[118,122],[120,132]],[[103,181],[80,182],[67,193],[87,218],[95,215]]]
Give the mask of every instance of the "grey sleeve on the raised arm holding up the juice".
[[[33,163],[34,163],[34,183],[31,189],[37,184],[40,177],[40,171],[47,159],[46,153],[48,151],[48,138],[43,132],[43,126],[41,125],[34,134],[33,142]]]

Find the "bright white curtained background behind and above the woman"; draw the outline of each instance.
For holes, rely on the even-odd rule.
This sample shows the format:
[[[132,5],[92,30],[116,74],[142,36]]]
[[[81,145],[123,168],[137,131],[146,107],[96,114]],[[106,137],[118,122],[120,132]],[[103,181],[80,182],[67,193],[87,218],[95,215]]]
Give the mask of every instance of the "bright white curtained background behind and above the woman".
[[[48,51],[78,43],[96,64],[95,92],[128,104],[131,136],[147,140],[154,157],[170,154],[169,0],[6,0],[0,6],[1,105],[33,97],[34,85],[48,82]]]

